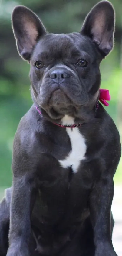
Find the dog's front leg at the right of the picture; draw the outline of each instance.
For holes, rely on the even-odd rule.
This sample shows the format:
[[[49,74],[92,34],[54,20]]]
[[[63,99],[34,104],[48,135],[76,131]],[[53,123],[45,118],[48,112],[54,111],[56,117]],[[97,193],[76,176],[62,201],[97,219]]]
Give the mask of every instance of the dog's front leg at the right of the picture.
[[[114,184],[111,175],[94,185],[90,197],[90,216],[94,229],[95,256],[117,256],[111,240],[111,204]]]

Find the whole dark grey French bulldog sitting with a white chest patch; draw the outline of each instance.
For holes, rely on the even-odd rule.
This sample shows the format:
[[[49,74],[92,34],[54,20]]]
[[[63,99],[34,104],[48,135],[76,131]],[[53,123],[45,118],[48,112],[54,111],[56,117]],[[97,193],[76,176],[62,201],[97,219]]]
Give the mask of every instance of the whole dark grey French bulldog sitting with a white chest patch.
[[[12,28],[30,63],[33,105],[13,143],[12,187],[0,204],[0,256],[117,256],[113,177],[119,132],[100,103],[100,63],[114,43],[114,9],[101,1],[80,32],[48,33],[25,6]]]

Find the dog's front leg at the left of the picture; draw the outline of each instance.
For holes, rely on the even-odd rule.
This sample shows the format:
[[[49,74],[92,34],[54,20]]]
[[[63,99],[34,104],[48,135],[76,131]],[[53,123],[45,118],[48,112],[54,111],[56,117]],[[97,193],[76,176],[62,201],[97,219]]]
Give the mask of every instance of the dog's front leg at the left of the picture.
[[[13,178],[7,256],[29,255],[31,188],[27,175],[18,175]]]

